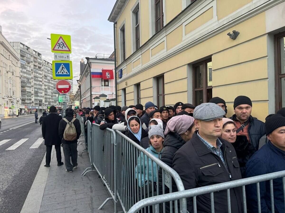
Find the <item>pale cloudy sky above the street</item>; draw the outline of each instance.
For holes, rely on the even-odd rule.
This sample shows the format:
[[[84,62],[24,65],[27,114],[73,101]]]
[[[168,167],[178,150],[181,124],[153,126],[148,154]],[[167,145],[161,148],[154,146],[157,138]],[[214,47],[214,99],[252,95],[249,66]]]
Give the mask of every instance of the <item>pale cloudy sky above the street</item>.
[[[52,62],[51,33],[71,35],[73,76],[80,60],[114,51],[113,23],[107,19],[115,0],[0,0],[0,25],[8,41],[21,41]],[[79,78],[74,78],[74,83]]]

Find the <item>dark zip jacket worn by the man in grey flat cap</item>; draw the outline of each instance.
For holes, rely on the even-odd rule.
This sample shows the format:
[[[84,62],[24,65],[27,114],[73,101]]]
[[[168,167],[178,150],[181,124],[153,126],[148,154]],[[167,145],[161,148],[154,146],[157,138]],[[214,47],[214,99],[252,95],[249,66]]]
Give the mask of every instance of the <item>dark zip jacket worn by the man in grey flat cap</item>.
[[[190,141],[186,142],[174,154],[173,169],[182,179],[185,190],[197,187],[224,183],[241,179],[239,162],[233,145],[219,138],[222,143],[221,150],[224,153],[228,170],[221,159],[213,154],[200,140],[197,131]],[[229,174],[230,173],[230,174]],[[230,189],[231,212],[243,212],[242,188]],[[210,193],[197,196],[198,212],[211,212]],[[227,191],[214,193],[215,212],[228,212]],[[187,198],[187,210],[193,212],[193,198]]]

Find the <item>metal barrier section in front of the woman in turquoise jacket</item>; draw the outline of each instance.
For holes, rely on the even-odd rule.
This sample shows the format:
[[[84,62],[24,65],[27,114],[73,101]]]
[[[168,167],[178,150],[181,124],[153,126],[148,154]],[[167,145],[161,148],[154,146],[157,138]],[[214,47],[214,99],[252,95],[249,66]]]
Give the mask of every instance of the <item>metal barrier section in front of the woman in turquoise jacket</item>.
[[[184,191],[184,186],[180,176],[175,170],[167,166],[164,162],[150,154],[143,147],[129,139],[120,131],[116,130],[117,140],[117,197],[122,205],[123,211],[127,212],[135,203],[144,198],[159,195],[159,185],[162,185],[162,196],[165,196],[165,186],[172,192],[172,181],[176,183],[178,191]],[[139,160],[141,163],[139,164]],[[145,162],[146,161],[146,162]],[[156,164],[154,169],[154,164]],[[158,166],[162,168],[162,183],[159,184]],[[149,171],[150,174],[149,174]],[[147,172],[147,174],[146,174]],[[155,175],[156,174],[156,175]],[[156,176],[156,181],[154,181]],[[144,177],[144,183],[140,180]],[[116,181],[116,179],[115,179]],[[178,199],[174,201],[174,211],[178,210]],[[173,202],[169,202],[170,212],[172,212]],[[159,205],[151,203],[145,205],[141,212],[159,212]],[[152,206],[151,206],[152,205]],[[165,203],[162,205],[165,212]],[[186,198],[180,199],[180,211],[187,212]]]

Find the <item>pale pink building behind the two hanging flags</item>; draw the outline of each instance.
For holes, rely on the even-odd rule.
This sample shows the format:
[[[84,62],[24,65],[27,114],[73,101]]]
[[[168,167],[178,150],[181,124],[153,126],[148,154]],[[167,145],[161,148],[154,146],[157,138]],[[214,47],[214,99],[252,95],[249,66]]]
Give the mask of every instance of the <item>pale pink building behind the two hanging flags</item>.
[[[80,62],[82,66],[83,60]],[[97,70],[112,70],[114,75],[114,58],[111,54],[96,54],[94,58],[89,59],[89,64],[91,66],[91,72],[97,72]],[[81,106],[90,107],[94,105],[94,98],[99,97],[100,95],[104,96],[106,99],[113,99],[116,96],[115,93],[115,80],[92,77],[92,103],[90,103],[90,68],[86,63],[84,68],[80,70],[80,78],[78,80],[78,86],[80,86],[78,91],[81,91]],[[96,102],[97,105],[97,102]]]

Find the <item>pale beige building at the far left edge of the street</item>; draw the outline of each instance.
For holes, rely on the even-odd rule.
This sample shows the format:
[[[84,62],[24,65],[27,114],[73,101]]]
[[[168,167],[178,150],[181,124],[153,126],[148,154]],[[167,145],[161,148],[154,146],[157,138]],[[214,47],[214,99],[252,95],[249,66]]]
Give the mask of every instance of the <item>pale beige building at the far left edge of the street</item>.
[[[17,115],[20,108],[20,59],[0,27],[0,117]]]

